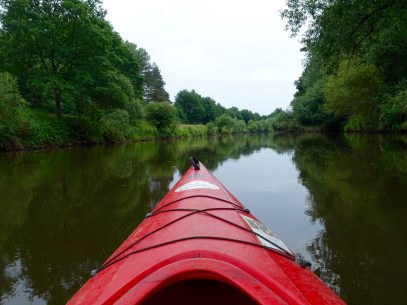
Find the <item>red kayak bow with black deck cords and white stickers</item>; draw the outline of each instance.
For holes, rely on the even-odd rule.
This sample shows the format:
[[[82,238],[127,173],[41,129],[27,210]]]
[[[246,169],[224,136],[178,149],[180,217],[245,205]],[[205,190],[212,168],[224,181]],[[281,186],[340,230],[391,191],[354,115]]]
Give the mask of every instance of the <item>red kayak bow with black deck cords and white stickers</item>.
[[[308,267],[194,159],[68,304],[345,304]]]

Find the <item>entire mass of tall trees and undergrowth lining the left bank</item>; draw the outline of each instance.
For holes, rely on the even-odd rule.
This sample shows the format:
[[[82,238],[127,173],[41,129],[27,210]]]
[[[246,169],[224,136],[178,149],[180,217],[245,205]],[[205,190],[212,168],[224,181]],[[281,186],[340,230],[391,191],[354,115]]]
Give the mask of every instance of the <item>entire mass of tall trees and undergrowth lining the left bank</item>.
[[[0,148],[272,129],[193,90],[171,103],[157,64],[105,16],[99,0],[0,0]]]

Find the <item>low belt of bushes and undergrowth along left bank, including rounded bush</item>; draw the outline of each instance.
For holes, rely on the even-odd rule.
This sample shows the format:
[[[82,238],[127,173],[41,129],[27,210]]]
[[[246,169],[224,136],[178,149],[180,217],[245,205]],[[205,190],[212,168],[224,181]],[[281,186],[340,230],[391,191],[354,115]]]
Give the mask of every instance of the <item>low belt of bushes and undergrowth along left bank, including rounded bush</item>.
[[[70,114],[55,116],[29,107],[19,93],[16,80],[8,73],[0,73],[2,150],[267,132],[273,129],[273,118],[246,123],[227,113],[207,124],[182,124],[179,110],[168,102],[150,102],[142,105],[140,111],[140,118],[132,117],[123,109],[116,109],[99,119]]]

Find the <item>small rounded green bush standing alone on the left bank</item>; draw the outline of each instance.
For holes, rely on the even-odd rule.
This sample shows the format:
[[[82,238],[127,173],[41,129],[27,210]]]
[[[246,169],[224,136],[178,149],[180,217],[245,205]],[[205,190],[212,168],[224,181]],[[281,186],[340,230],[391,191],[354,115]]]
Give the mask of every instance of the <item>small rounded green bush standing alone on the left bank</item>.
[[[161,135],[172,134],[176,123],[176,109],[167,102],[152,102],[146,108],[146,119],[151,122]]]

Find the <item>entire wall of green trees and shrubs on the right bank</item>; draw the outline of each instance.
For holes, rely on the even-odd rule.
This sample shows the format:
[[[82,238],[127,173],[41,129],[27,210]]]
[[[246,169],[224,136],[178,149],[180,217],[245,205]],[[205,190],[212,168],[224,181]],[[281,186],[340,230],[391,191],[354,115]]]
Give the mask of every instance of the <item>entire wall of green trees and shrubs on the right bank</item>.
[[[407,131],[407,1],[286,0],[305,69],[282,129]]]

